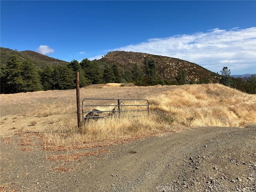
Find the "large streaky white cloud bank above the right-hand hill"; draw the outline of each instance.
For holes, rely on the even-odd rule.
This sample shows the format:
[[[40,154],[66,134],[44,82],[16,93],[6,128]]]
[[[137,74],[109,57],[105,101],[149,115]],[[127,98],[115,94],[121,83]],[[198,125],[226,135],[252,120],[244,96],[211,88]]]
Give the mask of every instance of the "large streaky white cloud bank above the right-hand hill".
[[[232,74],[256,73],[256,27],[152,38],[146,42],[113,49],[180,58],[220,72],[227,66]],[[91,58],[99,58],[99,56]]]

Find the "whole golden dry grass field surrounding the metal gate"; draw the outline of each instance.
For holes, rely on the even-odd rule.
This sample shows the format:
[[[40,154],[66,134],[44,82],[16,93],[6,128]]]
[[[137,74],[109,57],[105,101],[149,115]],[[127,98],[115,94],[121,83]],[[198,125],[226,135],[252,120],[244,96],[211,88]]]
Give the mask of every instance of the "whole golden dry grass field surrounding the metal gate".
[[[45,150],[108,146],[116,142],[198,126],[256,124],[256,95],[220,84],[184,86],[91,85],[80,89],[83,98],[148,99],[150,115],[89,121],[77,128],[76,90],[1,94],[1,136],[21,138],[23,150],[33,150],[38,136]]]

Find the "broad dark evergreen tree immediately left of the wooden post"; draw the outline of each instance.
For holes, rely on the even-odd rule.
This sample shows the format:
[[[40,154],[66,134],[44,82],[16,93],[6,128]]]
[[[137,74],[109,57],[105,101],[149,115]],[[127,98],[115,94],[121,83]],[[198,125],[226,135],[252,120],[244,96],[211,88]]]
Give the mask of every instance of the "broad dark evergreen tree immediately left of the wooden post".
[[[76,88],[74,72],[66,65],[57,65],[54,67],[52,77],[54,82],[53,89],[65,90]]]

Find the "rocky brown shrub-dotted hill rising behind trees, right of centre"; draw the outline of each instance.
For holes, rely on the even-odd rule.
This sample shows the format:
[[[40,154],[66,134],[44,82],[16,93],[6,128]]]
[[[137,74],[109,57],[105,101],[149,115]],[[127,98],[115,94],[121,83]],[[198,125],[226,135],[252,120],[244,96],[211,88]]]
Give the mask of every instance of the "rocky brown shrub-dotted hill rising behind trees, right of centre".
[[[145,58],[153,59],[156,63],[156,71],[158,75],[168,80],[175,80],[179,70],[184,70],[186,72],[186,78],[188,81],[209,79],[212,83],[217,83],[221,77],[219,74],[211,72],[192,62],[140,52],[113,51],[109,52],[98,61],[114,63],[124,70],[131,70],[134,64],[138,64],[143,67]]]

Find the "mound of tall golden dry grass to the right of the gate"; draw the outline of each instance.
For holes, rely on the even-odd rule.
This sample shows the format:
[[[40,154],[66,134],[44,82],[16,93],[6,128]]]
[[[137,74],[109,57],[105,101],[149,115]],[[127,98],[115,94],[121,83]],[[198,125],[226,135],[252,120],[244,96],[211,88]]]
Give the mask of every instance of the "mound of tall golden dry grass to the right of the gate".
[[[150,97],[150,109],[172,114],[174,126],[244,126],[256,124],[256,95],[221,84],[184,85]]]

